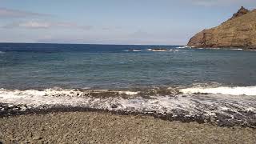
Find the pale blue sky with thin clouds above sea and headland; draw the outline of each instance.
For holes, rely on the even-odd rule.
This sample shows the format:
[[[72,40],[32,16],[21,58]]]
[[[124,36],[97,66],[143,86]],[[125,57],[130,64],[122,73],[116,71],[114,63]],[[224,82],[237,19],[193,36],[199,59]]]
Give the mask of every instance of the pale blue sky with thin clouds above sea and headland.
[[[186,45],[256,0],[0,0],[0,42]]]

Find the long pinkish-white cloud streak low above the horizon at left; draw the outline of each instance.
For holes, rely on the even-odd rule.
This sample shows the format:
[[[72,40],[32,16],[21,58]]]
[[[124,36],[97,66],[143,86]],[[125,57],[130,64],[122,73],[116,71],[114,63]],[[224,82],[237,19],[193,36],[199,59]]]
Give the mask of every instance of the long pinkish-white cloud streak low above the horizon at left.
[[[14,29],[14,28],[26,28],[26,29],[50,29],[50,28],[70,28],[90,30],[93,26],[78,25],[74,22],[48,22],[48,21],[35,21],[30,20],[26,22],[12,22],[2,28]]]

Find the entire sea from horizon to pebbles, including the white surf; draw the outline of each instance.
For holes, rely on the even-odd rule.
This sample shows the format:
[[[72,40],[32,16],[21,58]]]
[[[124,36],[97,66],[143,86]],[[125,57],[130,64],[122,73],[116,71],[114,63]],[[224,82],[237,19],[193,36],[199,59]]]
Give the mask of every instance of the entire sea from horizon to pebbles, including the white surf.
[[[255,75],[256,51],[0,43],[0,114],[68,106],[256,126]]]

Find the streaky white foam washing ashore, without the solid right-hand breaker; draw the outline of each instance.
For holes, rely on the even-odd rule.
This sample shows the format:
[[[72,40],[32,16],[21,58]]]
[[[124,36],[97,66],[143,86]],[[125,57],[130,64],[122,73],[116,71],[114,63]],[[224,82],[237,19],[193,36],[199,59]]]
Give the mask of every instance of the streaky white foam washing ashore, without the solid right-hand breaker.
[[[254,90],[254,89],[253,89]],[[116,91],[119,94],[134,95],[130,98],[122,97],[93,97],[86,94],[90,92],[106,92],[107,90],[79,91],[79,90],[5,90],[0,89],[0,103],[10,105],[26,105],[25,109],[45,109],[51,106],[79,106],[98,110],[114,110],[125,112],[139,112],[144,114],[171,114],[172,117],[184,115],[185,117],[216,118],[218,114],[243,114],[248,111],[256,113],[255,96],[238,96],[222,94],[176,94],[151,95],[142,97],[138,92]],[[113,92],[113,91],[111,91]],[[137,94],[137,95],[136,95]],[[89,94],[90,95],[90,94]],[[242,119],[246,122],[245,115]],[[223,120],[223,119],[222,119]],[[232,119],[234,122],[234,119]],[[226,122],[229,122],[228,119]],[[238,119],[241,122],[241,119]]]

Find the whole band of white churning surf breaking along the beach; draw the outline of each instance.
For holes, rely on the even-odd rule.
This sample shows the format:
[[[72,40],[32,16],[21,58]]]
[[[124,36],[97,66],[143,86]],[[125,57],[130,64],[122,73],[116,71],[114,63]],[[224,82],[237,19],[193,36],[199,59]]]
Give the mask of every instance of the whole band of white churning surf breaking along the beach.
[[[256,126],[255,89],[255,86],[143,91],[0,89],[0,116],[9,112],[13,114],[12,110],[47,110],[66,106],[153,114],[170,120],[213,122],[221,126]]]

